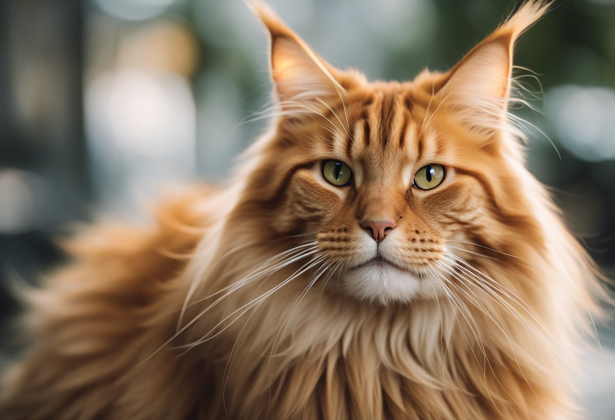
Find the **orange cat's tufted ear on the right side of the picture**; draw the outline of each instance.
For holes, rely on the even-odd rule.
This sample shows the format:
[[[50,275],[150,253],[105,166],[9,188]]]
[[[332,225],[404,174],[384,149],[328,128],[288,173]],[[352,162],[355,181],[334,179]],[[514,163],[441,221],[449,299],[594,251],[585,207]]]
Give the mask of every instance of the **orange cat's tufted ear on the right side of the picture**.
[[[492,134],[506,122],[515,41],[549,5],[544,1],[525,2],[445,75],[437,97],[470,128]]]

